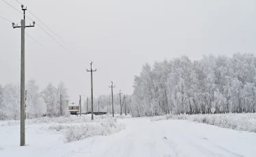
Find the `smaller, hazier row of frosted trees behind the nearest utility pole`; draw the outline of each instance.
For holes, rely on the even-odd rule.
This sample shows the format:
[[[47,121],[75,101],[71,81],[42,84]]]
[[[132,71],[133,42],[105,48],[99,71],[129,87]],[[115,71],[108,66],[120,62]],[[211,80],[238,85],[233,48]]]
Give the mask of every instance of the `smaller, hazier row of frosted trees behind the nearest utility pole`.
[[[27,100],[25,113],[27,118],[42,117],[42,115],[55,117],[62,112],[68,114],[68,90],[63,82],[57,87],[49,83],[40,91],[34,80],[26,84]],[[60,95],[62,96],[62,111],[60,110]],[[12,83],[0,85],[0,119],[20,119],[20,85]]]

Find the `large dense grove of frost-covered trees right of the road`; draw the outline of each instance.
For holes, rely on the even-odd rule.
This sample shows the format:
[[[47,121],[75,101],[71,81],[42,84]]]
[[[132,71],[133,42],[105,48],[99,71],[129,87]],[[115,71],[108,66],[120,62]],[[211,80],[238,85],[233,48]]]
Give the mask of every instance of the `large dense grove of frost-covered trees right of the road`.
[[[180,57],[150,66],[134,78],[134,116],[197,113],[254,113],[256,57]]]

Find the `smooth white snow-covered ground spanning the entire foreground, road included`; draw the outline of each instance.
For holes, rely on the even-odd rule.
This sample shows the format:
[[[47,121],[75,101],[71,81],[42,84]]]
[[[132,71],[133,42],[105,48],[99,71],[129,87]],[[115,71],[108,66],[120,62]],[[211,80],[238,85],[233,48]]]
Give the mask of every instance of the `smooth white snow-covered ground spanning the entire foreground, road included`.
[[[126,129],[109,136],[63,143],[49,124],[27,126],[27,146],[19,147],[19,126],[0,126],[0,156],[255,156],[256,133],[184,120],[151,122],[122,118]]]

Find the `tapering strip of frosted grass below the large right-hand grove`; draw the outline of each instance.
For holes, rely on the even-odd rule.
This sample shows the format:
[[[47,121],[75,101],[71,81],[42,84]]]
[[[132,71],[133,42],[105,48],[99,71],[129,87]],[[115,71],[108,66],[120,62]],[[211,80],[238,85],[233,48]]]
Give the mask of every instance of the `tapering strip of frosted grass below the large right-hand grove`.
[[[165,115],[152,117],[151,121],[162,119],[183,119],[193,122],[205,123],[221,128],[256,132],[256,113],[229,113],[214,115]]]

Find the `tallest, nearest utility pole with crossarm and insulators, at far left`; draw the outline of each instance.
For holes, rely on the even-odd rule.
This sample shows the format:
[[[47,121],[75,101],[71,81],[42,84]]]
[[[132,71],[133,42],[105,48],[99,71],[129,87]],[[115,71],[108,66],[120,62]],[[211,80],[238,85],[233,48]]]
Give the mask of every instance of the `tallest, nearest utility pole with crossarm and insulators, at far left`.
[[[12,27],[21,28],[21,63],[20,63],[20,146],[25,145],[25,27],[34,27],[33,25],[26,26],[25,23],[25,11],[24,5],[21,5],[21,10],[23,10],[23,19],[20,22],[20,26],[12,23]]]

